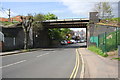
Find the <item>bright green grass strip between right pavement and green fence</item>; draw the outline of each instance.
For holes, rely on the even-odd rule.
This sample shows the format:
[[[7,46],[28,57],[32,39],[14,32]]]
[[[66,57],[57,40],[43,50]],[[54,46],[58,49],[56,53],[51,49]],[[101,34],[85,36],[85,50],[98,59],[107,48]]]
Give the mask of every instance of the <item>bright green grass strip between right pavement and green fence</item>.
[[[88,47],[88,50],[100,55],[100,56],[103,56],[103,57],[107,57],[108,55],[103,53],[101,49],[97,48],[96,46],[89,46]]]

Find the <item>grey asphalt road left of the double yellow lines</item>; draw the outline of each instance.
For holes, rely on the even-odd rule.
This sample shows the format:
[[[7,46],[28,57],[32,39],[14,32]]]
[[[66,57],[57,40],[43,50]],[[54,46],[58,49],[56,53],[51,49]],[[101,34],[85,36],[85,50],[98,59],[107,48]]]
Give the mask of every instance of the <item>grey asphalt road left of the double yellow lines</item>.
[[[70,78],[80,45],[84,43],[4,56],[2,78]]]

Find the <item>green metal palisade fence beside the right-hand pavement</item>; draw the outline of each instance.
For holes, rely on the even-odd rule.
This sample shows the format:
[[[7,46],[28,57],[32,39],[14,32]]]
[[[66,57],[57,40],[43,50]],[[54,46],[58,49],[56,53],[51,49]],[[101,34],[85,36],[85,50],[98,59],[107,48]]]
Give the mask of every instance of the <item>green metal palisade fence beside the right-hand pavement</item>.
[[[104,53],[117,50],[118,45],[120,45],[120,28],[116,27],[113,32],[104,32],[98,36],[92,36],[90,42],[96,43],[96,46]]]

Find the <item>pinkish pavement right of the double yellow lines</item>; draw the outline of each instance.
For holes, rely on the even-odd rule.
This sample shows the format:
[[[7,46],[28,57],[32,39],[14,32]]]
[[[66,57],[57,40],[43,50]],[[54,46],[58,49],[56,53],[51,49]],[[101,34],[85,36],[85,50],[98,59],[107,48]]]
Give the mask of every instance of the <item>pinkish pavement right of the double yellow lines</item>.
[[[87,48],[79,48],[84,59],[84,78],[117,78],[118,61],[101,57]]]

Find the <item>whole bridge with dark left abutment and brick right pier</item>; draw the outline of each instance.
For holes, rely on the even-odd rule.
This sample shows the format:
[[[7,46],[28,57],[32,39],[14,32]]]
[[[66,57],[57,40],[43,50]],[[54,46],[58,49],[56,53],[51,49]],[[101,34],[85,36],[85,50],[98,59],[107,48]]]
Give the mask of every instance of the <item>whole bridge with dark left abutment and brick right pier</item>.
[[[47,46],[49,44],[49,38],[47,37],[47,33],[48,33],[48,29],[51,28],[86,28],[86,38],[87,38],[87,43],[89,43],[89,37],[93,32],[94,24],[98,21],[99,19],[97,16],[97,12],[91,12],[89,19],[80,18],[80,19],[45,20],[42,22],[38,21],[38,23],[42,23],[44,30],[40,32],[39,37],[35,39],[34,45],[42,44],[41,47]],[[88,24],[90,25],[88,26]]]

